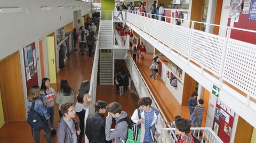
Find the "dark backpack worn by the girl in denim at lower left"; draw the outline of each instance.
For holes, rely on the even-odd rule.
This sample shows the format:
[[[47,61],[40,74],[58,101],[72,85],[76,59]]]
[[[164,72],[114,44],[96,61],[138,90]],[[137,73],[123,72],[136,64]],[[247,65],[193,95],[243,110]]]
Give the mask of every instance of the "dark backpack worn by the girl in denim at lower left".
[[[46,126],[44,116],[39,115],[35,111],[35,102],[32,103],[32,106],[28,111],[27,122],[31,127],[32,136],[33,136],[33,128],[35,130],[42,130]]]

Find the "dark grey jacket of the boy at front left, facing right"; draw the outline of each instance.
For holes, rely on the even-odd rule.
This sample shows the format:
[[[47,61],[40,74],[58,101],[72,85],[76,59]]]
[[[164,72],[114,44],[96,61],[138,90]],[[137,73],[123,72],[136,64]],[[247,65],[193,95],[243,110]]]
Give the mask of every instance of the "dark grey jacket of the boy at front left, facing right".
[[[72,143],[72,133],[68,124],[63,119],[64,116],[61,117],[60,122],[58,123],[57,129],[57,143]]]

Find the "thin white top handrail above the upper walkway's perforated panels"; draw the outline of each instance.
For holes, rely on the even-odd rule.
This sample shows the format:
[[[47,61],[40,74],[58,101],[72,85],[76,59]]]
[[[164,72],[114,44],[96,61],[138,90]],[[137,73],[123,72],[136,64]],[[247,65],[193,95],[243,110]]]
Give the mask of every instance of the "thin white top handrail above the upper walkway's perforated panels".
[[[207,22],[200,22],[200,21],[194,21],[194,20],[186,20],[186,19],[179,19],[179,18],[172,18],[172,17],[169,17],[169,16],[163,16],[163,15],[157,15],[157,14],[151,14],[151,13],[141,13],[141,12],[137,12],[137,11],[126,11],[126,12],[129,12],[129,13],[133,13],[133,14],[142,14],[142,16],[145,16],[145,15],[150,15],[150,17],[148,18],[152,18],[151,15],[154,15],[154,19],[158,17],[164,17],[165,18],[165,21],[166,22],[166,19],[174,19],[174,20],[181,20],[181,21],[187,21],[187,22],[193,22],[193,23],[200,23],[200,24],[205,24],[205,25],[209,25],[209,26],[217,26],[217,27],[221,27],[221,28],[227,28],[227,29],[235,29],[235,30],[240,30],[240,31],[246,31],[246,32],[253,32],[253,33],[256,33],[256,30],[250,30],[250,29],[243,29],[243,28],[236,28],[236,27],[229,27],[229,26],[221,26],[221,25],[218,25],[218,24],[212,24],[212,23],[207,23]],[[153,18],[152,18],[153,19]],[[158,19],[159,20],[159,19]],[[169,23],[169,22],[168,22]]]

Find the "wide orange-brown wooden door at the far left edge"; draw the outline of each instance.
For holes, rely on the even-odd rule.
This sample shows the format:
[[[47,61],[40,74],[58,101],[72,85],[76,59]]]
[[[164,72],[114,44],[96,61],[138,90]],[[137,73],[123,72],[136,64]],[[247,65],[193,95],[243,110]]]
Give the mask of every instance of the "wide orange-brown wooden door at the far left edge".
[[[0,62],[0,87],[5,122],[26,121],[19,52]]]

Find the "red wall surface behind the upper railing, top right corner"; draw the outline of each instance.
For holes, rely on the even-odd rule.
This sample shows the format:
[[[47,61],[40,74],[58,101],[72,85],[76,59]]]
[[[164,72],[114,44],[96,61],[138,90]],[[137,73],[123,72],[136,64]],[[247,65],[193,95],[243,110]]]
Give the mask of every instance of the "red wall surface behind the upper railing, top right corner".
[[[234,27],[256,30],[256,21],[249,20],[249,14],[243,14],[243,10],[239,15],[238,22],[234,23]],[[230,26],[230,18],[228,19],[228,26]],[[231,30],[230,38],[245,41],[247,43],[256,44],[256,33],[244,32],[241,30]]]

